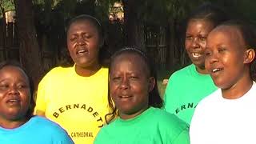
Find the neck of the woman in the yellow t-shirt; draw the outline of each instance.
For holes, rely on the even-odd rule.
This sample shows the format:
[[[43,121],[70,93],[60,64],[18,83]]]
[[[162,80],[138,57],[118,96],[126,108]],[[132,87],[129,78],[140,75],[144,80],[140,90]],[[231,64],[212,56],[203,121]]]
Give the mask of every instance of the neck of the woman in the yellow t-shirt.
[[[88,66],[88,67],[81,67],[81,66],[75,65],[76,73],[82,77],[90,77],[91,75],[94,75],[95,73],[97,73],[97,71],[100,68],[101,66],[99,64],[94,66]]]

